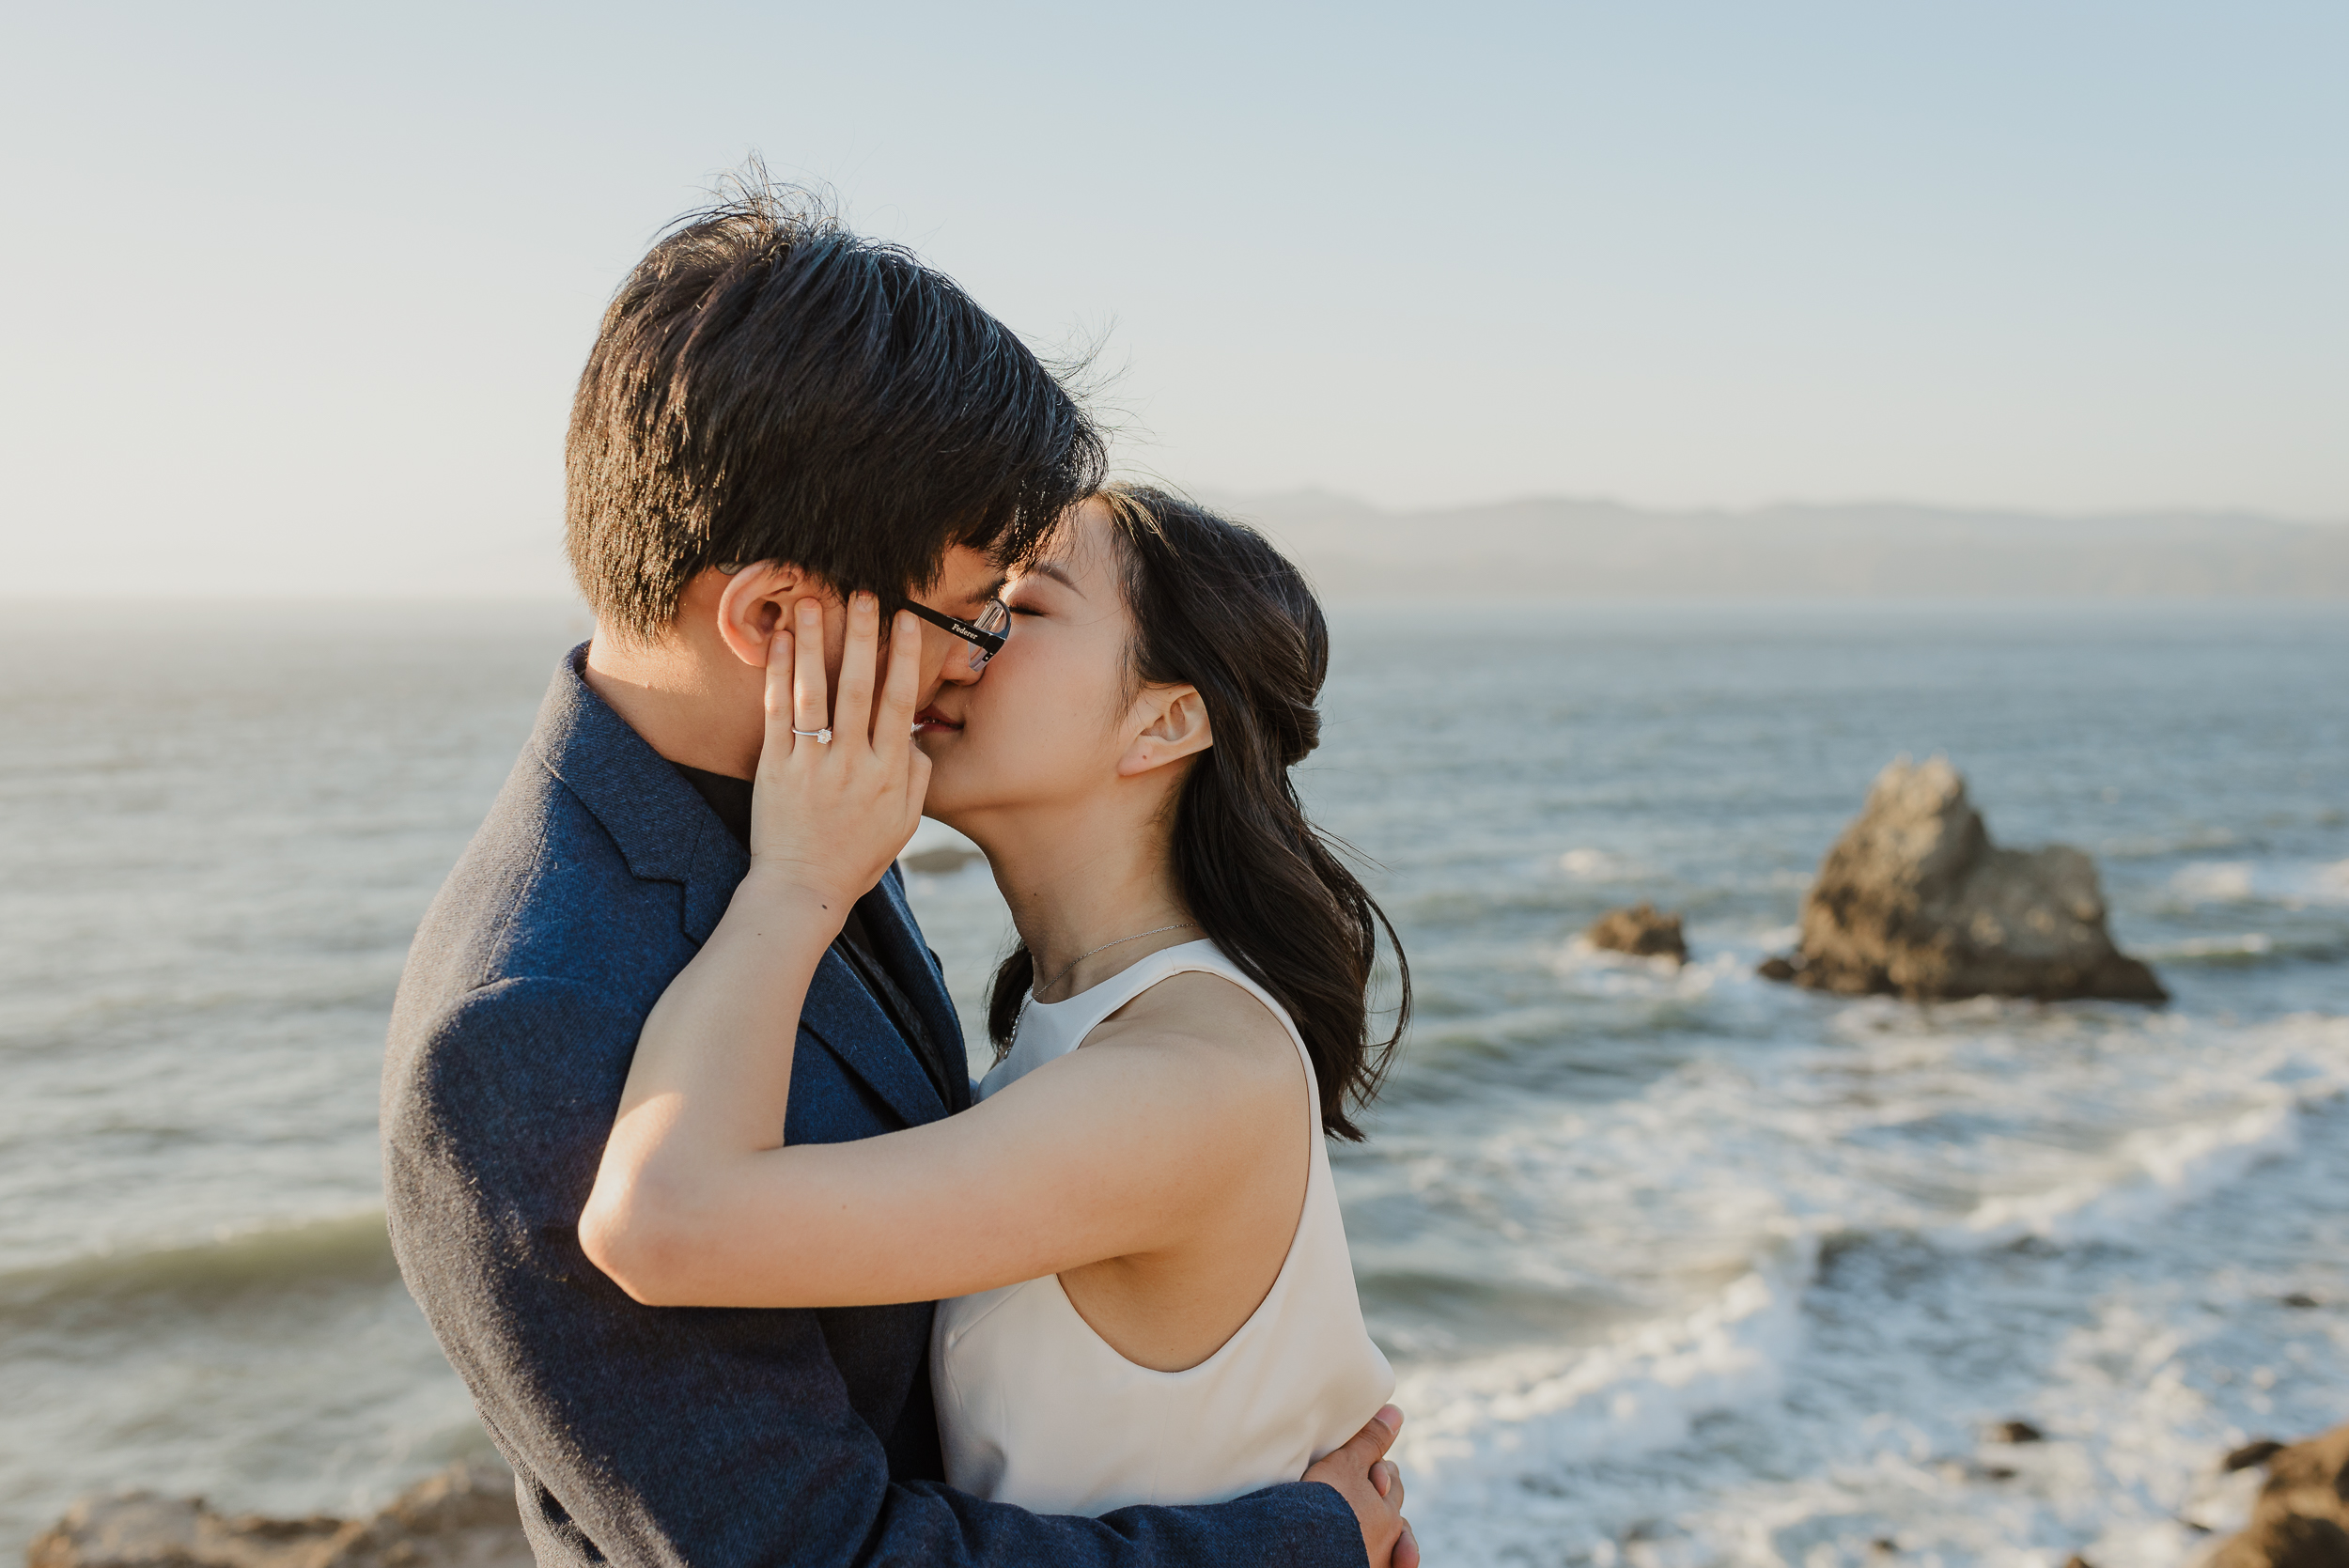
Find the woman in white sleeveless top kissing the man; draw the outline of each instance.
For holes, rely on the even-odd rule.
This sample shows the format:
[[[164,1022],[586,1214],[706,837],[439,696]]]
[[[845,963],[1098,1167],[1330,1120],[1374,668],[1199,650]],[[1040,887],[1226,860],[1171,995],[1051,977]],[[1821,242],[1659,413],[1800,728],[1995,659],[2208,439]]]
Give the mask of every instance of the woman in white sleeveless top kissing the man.
[[[1348,1101],[1400,1035],[1365,1002],[1384,915],[1290,784],[1327,629],[1257,533],[1144,488],[1081,507],[1003,601],[987,676],[918,716],[909,617],[879,707],[871,596],[836,707],[820,606],[778,631],[752,871],[646,1019],[580,1239],[660,1305],[949,1298],[961,1491],[1104,1514],[1292,1481],[1393,1390],[1322,1141],[1362,1136]],[[808,979],[923,810],[1019,930],[982,1099],[775,1148]]]

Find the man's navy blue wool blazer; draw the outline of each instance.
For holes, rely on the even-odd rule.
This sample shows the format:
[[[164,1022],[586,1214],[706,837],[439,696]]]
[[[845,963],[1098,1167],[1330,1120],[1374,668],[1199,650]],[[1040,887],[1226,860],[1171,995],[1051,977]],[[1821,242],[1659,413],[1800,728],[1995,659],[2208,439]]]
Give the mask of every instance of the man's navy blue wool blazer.
[[[583,655],[557,669],[416,934],[383,1068],[392,1249],[514,1467],[538,1561],[1362,1568],[1353,1512],[1318,1483],[1106,1519],[947,1488],[930,1303],[641,1307],[587,1263],[578,1216],[637,1030],[749,859],[587,688]],[[897,873],[860,908],[958,1063],[954,1007]],[[799,1021],[787,1141],[947,1113],[914,1047],[827,953]]]

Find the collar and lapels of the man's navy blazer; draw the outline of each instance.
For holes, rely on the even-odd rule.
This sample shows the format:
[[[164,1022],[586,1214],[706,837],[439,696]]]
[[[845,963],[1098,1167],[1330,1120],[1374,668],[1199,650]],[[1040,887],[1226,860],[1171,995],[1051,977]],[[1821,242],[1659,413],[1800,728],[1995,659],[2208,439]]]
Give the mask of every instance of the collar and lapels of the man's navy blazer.
[[[684,887],[684,930],[695,944],[709,941],[735,885],[749,871],[749,854],[677,768],[594,695],[580,674],[585,662],[587,643],[580,643],[557,667],[554,685],[538,709],[531,751],[604,824],[632,876]],[[937,1038],[949,1042],[949,1054],[958,1054],[963,1033],[954,1021],[944,976],[921,944],[897,883],[893,866],[881,878],[890,918],[867,925],[876,941],[890,946],[886,960],[897,974],[928,974],[935,981],[921,986],[914,1002]],[[947,1115],[930,1075],[839,953],[824,953],[817,962],[801,1026],[909,1124]]]

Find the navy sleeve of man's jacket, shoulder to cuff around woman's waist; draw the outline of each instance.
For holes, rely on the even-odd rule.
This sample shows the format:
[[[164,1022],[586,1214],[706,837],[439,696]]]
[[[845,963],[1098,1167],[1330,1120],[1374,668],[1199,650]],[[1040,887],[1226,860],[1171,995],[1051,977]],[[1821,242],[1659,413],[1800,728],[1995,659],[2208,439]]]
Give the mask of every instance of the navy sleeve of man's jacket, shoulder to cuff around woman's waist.
[[[503,979],[385,1063],[392,1246],[543,1563],[1362,1568],[1320,1483],[1081,1519],[890,1481],[822,1314],[630,1300],[576,1228],[639,1023],[578,981]]]

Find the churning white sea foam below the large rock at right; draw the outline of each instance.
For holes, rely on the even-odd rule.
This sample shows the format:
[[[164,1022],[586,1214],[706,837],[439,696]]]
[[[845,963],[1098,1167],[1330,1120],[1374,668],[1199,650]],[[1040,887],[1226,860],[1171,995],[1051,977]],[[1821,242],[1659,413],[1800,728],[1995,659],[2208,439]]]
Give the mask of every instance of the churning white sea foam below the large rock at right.
[[[1607,974],[1668,984],[1604,955],[1567,979]],[[1400,1458],[1431,1561],[1860,1563],[1896,1540],[1947,1563],[2055,1568],[2095,1547],[2091,1561],[2182,1568],[2203,1535],[2180,1516],[2241,1521],[2243,1488],[2213,1462],[2250,1418],[2276,1408],[2290,1434],[2349,1406],[2349,1371],[2297,1390],[2300,1413],[2227,1385],[2241,1314],[2210,1293],[2248,1282],[2206,1265],[2253,1230],[2234,1218],[2243,1195],[2323,1183],[2255,1171],[2349,1157],[2349,1019],[2217,1033],[2128,1009],[1823,1005],[1842,1047],[1691,1066],[1496,1131],[1475,1162],[1426,1162],[1426,1192],[1508,1195],[1520,1246],[1567,1246],[1583,1270],[1651,1256],[1658,1228],[1710,1235],[1682,1284],[1724,1246],[1745,1256],[1724,1286],[1588,1347],[1407,1364]],[[2102,1136],[2037,1141],[2032,1115],[2072,1127],[2067,1106],[2093,1096]],[[1959,1108],[2020,1117],[2011,1136],[1968,1134],[1973,1176],[1933,1141]],[[2328,1127],[2316,1145],[2311,1115]],[[1886,1150],[1903,1129],[1931,1164]],[[1529,1192],[1574,1216],[1543,1221]],[[2053,1298],[2018,1296],[2018,1268],[2048,1272],[2037,1289]],[[2046,1350],[2027,1347],[2037,1319],[2055,1331]],[[2006,1415],[2051,1441],[1985,1444]]]

